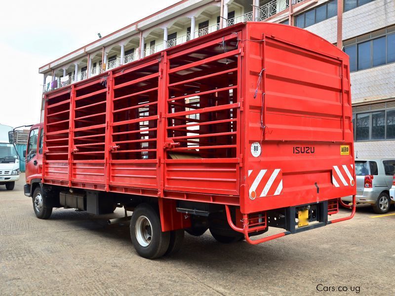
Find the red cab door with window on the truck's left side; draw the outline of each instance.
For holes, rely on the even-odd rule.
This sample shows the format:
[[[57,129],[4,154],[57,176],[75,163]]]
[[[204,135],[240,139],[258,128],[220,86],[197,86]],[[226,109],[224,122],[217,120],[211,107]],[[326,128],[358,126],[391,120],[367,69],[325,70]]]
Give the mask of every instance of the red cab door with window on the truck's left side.
[[[29,134],[26,149],[26,183],[30,184],[32,179],[41,178],[39,175],[38,160],[39,127],[32,128]],[[41,152],[42,153],[42,152]]]

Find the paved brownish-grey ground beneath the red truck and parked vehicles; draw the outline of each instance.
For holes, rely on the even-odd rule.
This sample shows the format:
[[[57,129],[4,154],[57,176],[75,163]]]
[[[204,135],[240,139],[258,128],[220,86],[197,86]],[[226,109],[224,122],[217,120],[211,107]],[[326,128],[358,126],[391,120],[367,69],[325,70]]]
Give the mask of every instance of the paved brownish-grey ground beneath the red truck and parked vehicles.
[[[186,234],[180,253],[147,260],[127,226],[106,225],[121,209],[57,209],[42,221],[23,183],[0,186],[0,295],[395,295],[395,215],[358,207],[349,222],[258,246]]]

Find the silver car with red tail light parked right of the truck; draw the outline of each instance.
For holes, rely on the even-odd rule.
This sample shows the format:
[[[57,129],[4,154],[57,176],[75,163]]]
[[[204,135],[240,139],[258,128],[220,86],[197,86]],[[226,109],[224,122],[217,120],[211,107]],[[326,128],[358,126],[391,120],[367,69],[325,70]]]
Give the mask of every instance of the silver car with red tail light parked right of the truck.
[[[377,214],[387,213],[394,203],[395,186],[392,195],[390,189],[394,183],[395,159],[357,159],[355,172],[356,203],[371,204]],[[342,200],[351,202],[353,197]]]

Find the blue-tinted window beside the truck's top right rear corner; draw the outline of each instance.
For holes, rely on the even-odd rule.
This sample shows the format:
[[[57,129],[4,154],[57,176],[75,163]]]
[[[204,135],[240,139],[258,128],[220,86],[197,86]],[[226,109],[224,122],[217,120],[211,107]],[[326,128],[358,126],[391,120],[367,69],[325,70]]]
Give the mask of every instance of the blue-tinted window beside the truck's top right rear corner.
[[[346,46],[344,51],[350,56],[351,72],[393,63],[395,33]]]

